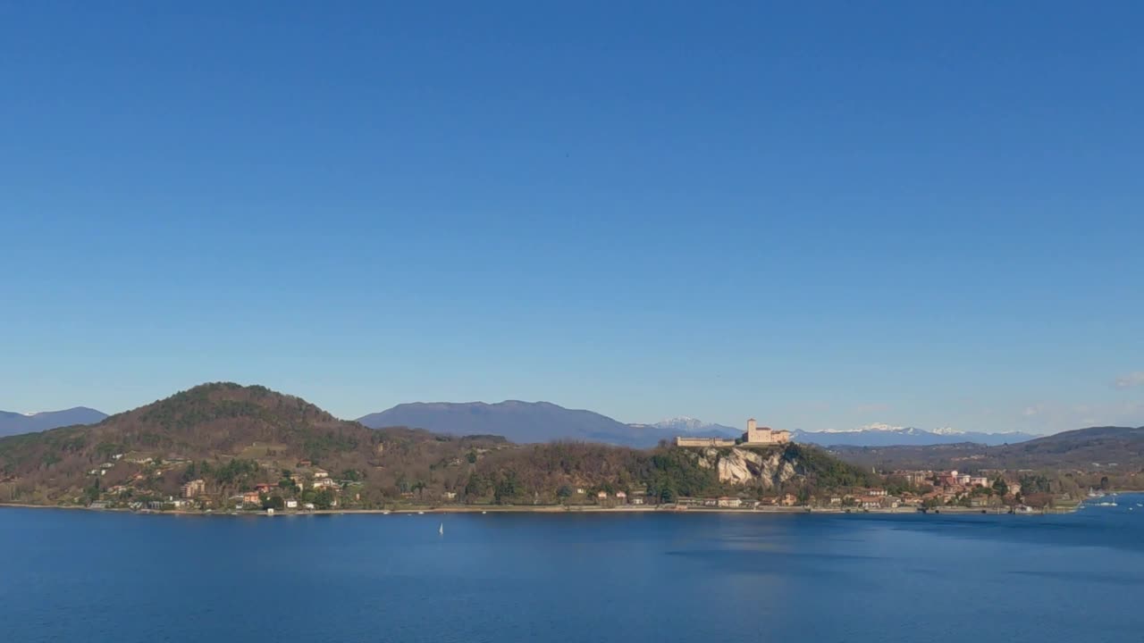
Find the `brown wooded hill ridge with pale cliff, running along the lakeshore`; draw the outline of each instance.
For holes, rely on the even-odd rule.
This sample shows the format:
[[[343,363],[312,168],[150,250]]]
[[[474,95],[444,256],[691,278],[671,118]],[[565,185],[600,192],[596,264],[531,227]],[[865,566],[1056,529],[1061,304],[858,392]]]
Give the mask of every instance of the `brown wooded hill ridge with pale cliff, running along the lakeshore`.
[[[702,454],[667,445],[516,445],[493,435],[371,429],[301,398],[235,383],[194,387],[94,426],[0,438],[0,501],[133,506],[177,498],[191,481],[202,481],[192,492],[198,508],[248,498],[375,508],[593,502],[599,491],[649,501],[807,495],[871,482],[861,470],[799,445]],[[261,494],[249,497],[254,492]]]

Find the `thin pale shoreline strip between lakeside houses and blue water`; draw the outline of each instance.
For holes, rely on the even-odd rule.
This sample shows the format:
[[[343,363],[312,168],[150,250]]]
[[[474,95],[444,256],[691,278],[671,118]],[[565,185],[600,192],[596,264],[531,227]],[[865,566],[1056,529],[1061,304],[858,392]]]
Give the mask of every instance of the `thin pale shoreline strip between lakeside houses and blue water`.
[[[562,506],[562,505],[543,505],[543,506],[456,506],[456,507],[403,507],[399,509],[312,509],[312,510],[286,510],[275,511],[273,514],[267,514],[263,510],[259,511],[186,511],[180,509],[172,509],[169,511],[152,510],[152,509],[125,509],[125,508],[94,508],[94,507],[80,507],[76,505],[32,505],[27,502],[0,502],[0,509],[3,508],[16,508],[16,509],[65,509],[65,510],[79,510],[79,511],[98,511],[98,513],[118,513],[118,514],[140,514],[140,515],[156,515],[156,516],[229,516],[229,517],[241,517],[241,516],[260,516],[267,518],[275,518],[280,516],[331,516],[331,515],[446,515],[446,514],[672,514],[672,515],[694,515],[694,514],[741,514],[741,515],[970,515],[970,516],[1049,516],[1059,514],[1074,514],[1085,503],[1079,502],[1075,506],[1066,508],[1055,508],[1050,511],[1032,511],[1027,514],[1010,513],[1008,510],[996,510],[990,508],[980,507],[942,507],[937,510],[930,509],[923,511],[915,507],[897,507],[897,508],[885,508],[885,509],[839,509],[832,507],[768,507],[765,509],[738,509],[730,507],[665,507],[665,506],[626,506],[626,507],[597,507],[597,506]]]

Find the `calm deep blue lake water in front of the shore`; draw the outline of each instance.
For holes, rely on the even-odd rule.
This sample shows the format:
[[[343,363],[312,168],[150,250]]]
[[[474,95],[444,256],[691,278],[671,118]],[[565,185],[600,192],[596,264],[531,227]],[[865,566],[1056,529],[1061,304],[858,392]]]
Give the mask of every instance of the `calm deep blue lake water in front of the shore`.
[[[0,509],[0,638],[1139,641],[1137,501],[1049,517],[466,515],[444,535],[429,515]]]

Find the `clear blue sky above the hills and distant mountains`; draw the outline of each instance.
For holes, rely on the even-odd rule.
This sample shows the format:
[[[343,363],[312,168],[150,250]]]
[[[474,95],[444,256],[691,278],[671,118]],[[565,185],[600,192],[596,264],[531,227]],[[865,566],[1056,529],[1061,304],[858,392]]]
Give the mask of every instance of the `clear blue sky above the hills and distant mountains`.
[[[0,408],[1144,423],[1144,8],[7,3]]]

